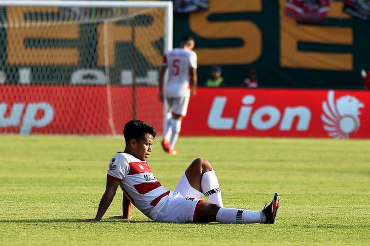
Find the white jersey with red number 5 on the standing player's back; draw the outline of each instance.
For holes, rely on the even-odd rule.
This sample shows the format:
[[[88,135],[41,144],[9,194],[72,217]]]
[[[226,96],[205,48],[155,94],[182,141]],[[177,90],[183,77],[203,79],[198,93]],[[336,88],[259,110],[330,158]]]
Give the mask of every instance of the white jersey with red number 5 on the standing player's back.
[[[190,96],[190,67],[197,68],[197,56],[192,50],[175,48],[165,54],[163,66],[169,68],[166,97]]]

